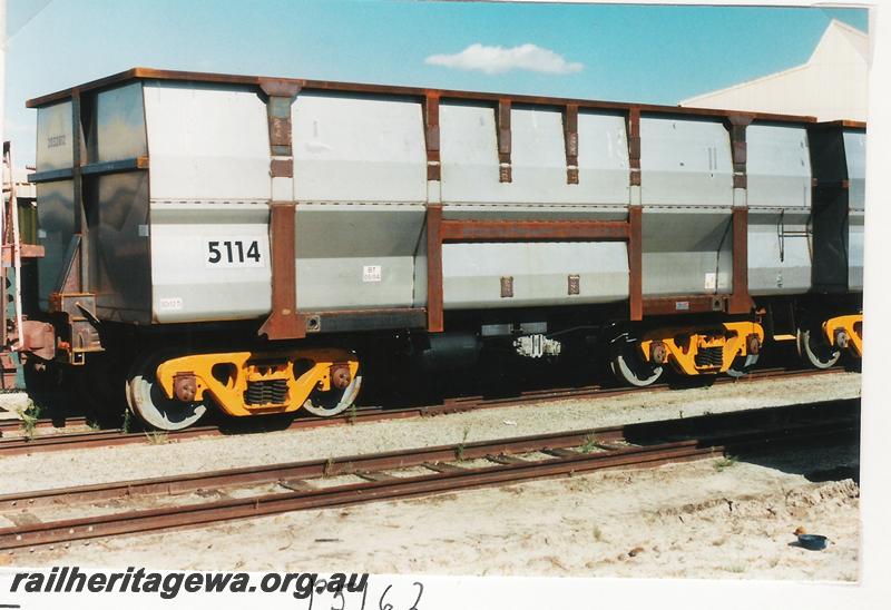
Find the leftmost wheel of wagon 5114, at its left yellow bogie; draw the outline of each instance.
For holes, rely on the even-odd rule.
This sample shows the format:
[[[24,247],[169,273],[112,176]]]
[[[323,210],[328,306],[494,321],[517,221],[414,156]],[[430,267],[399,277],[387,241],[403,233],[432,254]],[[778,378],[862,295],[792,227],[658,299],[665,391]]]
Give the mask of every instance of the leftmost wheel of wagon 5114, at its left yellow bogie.
[[[207,412],[209,401],[185,403],[168,399],[155,378],[164,361],[175,357],[174,352],[149,352],[137,357],[130,366],[126,384],[130,411],[144,422],[159,430],[183,430],[193,425]]]

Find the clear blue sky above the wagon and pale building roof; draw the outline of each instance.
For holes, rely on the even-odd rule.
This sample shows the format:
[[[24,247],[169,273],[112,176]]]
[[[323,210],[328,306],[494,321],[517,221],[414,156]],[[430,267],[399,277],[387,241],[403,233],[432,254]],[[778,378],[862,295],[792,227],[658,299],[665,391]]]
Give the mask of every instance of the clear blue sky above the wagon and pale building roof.
[[[32,163],[26,99],[134,66],[674,105],[803,63],[832,18],[866,29],[861,9],[9,0],[6,131]],[[460,67],[486,61],[517,69]]]

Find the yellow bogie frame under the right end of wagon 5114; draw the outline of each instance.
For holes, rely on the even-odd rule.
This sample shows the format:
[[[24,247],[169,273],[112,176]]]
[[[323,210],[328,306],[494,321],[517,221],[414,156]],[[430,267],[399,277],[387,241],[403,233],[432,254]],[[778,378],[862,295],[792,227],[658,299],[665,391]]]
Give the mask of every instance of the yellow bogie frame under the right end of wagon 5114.
[[[737,357],[757,355],[764,328],[755,322],[724,322],[709,326],[659,328],[640,341],[643,357],[652,362],[662,353],[665,362],[684,375],[726,373]],[[662,364],[662,363],[657,363]]]

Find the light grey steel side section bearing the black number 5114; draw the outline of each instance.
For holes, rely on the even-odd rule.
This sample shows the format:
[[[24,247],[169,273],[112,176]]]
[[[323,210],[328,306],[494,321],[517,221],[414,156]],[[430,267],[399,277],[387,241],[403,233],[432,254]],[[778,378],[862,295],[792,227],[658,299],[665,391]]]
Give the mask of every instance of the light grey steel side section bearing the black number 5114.
[[[270,312],[266,106],[255,87],[145,81],[154,319]]]

